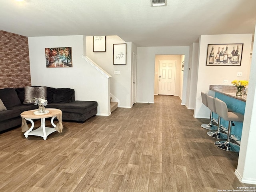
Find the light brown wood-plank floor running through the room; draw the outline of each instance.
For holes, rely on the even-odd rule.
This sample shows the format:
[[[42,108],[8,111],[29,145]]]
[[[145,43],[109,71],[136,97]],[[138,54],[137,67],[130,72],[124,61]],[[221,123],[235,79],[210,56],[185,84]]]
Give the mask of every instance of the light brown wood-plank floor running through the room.
[[[154,102],[84,124],[63,122],[63,132],[47,140],[26,139],[20,128],[0,134],[0,191],[217,192],[255,186],[238,181],[238,153],[214,146],[200,127],[208,120],[193,118],[176,96],[155,96]]]

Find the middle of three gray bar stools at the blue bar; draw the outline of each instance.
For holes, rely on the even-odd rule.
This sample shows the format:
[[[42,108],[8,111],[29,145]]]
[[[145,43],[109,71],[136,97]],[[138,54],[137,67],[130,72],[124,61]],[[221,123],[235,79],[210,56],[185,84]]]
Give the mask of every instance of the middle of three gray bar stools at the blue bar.
[[[216,107],[215,107],[215,98],[210,96],[210,95],[207,95],[207,104],[208,104],[208,108],[212,112],[214,112],[218,115],[218,113],[216,111]],[[227,139],[228,138],[227,134],[220,132],[220,127],[221,127],[221,117],[218,115],[218,129],[217,129],[217,131],[216,132],[209,131],[209,132],[207,132],[207,135],[211,136],[213,138],[216,138],[216,139]]]

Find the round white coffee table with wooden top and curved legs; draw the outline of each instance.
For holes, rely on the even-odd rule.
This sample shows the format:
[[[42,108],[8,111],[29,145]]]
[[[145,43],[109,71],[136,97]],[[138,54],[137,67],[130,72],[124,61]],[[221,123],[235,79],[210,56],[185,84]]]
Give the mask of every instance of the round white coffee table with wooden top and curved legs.
[[[40,136],[40,137],[44,138],[44,140],[46,140],[48,135],[57,131],[55,129],[56,125],[54,124],[53,120],[56,116],[62,117],[62,111],[59,109],[53,109],[53,108],[47,108],[46,110],[49,111],[47,114],[37,114],[36,113],[38,111],[37,109],[24,111],[20,114],[20,116],[22,118],[31,122],[31,127],[24,133],[24,136],[26,138],[28,138],[29,135],[34,135],[34,136]],[[50,118],[50,117],[51,117],[51,124],[53,127],[46,127],[45,126],[45,118]],[[35,130],[33,130],[34,125],[35,125],[33,119],[41,119],[41,126]],[[61,124],[61,128],[62,128],[62,120],[59,120],[58,126],[60,126],[60,124]]]

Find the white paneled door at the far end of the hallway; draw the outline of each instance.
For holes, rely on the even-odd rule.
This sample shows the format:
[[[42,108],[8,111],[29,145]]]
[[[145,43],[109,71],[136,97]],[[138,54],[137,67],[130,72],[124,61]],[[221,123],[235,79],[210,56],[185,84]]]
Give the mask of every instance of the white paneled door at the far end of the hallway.
[[[176,61],[159,61],[158,94],[174,95]]]

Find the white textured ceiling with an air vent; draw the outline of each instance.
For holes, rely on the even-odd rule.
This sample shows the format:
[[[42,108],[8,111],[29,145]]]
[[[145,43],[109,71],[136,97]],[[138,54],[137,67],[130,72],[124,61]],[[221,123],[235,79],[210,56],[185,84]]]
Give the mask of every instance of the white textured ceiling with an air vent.
[[[118,35],[137,46],[189,46],[252,33],[256,0],[0,0],[0,29],[23,36]]]

